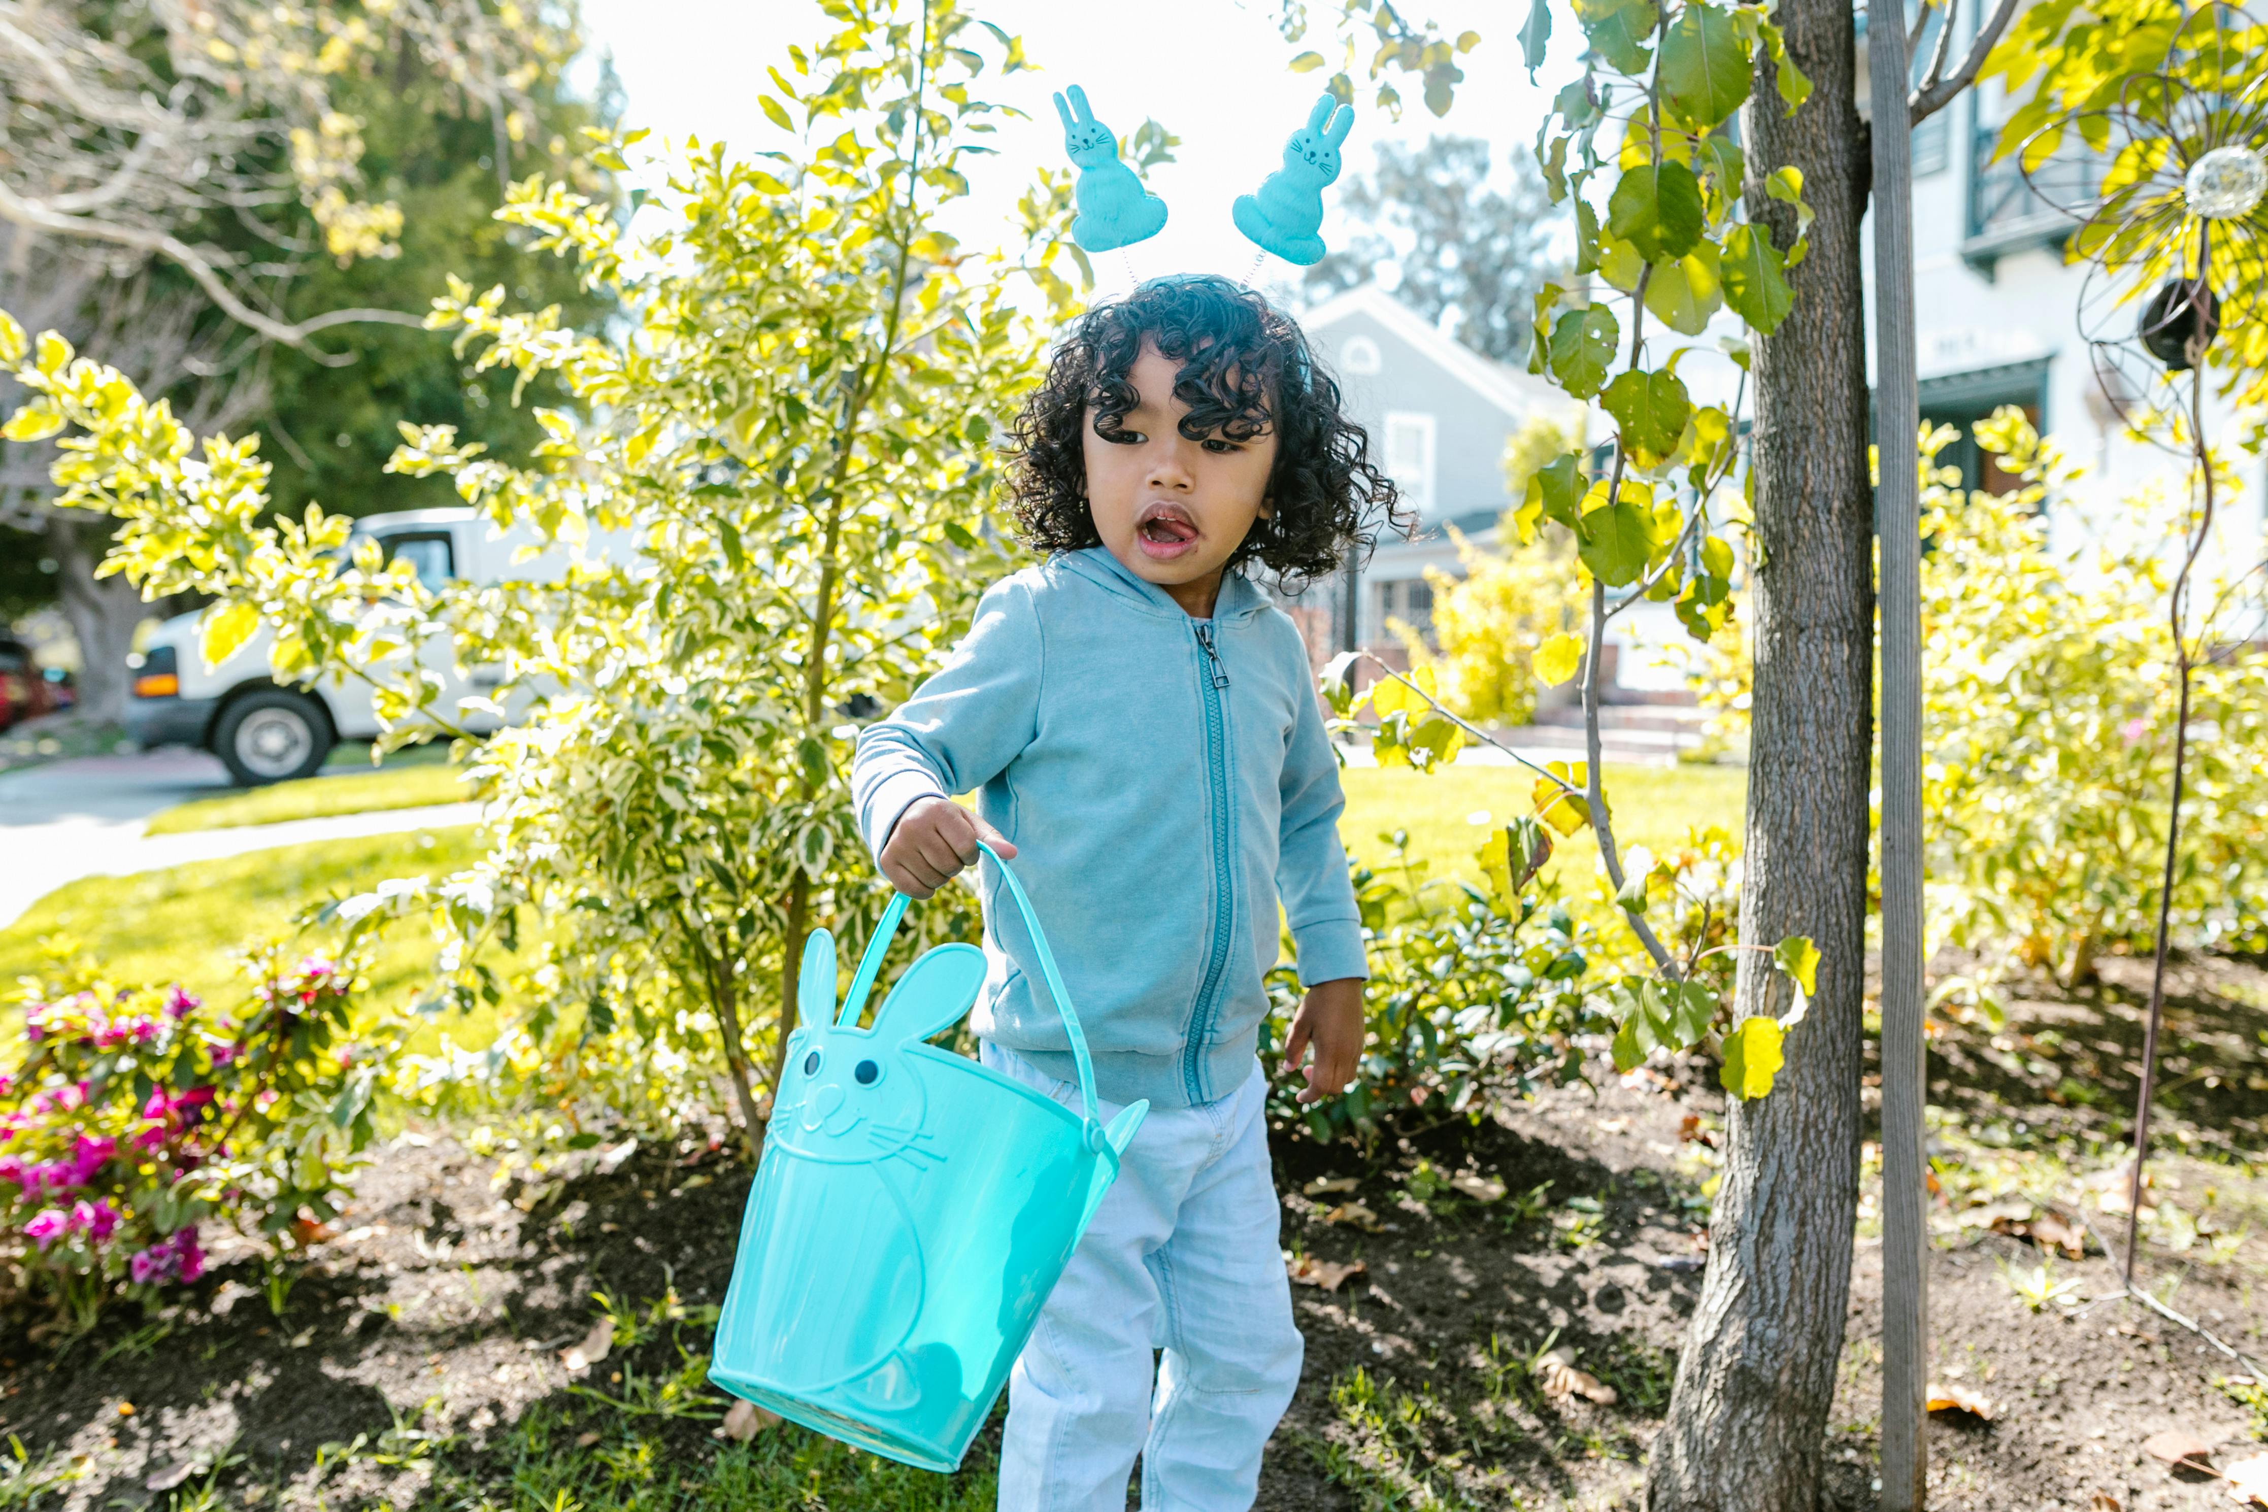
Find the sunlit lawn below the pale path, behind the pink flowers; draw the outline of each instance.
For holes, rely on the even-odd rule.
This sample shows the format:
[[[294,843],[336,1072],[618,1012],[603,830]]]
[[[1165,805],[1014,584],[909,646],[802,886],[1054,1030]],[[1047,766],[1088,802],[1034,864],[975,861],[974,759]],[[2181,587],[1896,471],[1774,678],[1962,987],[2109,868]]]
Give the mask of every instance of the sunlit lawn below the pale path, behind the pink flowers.
[[[388,877],[445,875],[479,857],[474,827],[456,825],[254,850],[132,877],[82,877],[0,929],[0,982],[39,972],[45,966],[41,938],[68,934],[118,982],[179,982],[200,997],[234,1004],[245,991],[236,952],[288,934],[302,907],[367,891]],[[367,1002],[411,1002],[431,961],[431,932],[420,923],[397,925],[372,961]],[[472,1022],[442,1027],[458,1043],[481,1043],[490,1034]]]

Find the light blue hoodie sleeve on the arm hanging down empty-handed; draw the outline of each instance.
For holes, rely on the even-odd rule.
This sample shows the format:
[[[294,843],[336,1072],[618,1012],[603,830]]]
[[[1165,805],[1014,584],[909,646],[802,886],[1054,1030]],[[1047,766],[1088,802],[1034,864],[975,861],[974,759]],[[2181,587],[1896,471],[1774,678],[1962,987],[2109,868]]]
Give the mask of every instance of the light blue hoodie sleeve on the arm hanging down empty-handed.
[[[1297,632],[1295,632],[1297,635]],[[1354,907],[1347,852],[1338,843],[1338,757],[1322,728],[1315,687],[1306,676],[1306,646],[1295,642],[1297,716],[1284,753],[1284,834],[1277,841],[1277,898],[1290,923],[1300,986],[1370,977],[1363,959],[1363,914]]]

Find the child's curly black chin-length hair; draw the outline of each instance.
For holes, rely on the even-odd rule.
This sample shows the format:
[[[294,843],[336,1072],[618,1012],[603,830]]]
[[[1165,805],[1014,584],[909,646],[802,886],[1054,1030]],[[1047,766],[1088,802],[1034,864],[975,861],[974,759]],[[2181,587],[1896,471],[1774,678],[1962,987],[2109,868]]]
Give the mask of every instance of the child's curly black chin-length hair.
[[[1261,295],[1218,274],[1150,279],[1125,299],[1080,315],[1012,433],[1009,512],[1041,555],[1100,546],[1086,508],[1086,410],[1095,435],[1118,440],[1141,397],[1127,372],[1143,342],[1182,365],[1173,397],[1188,406],[1182,435],[1250,440],[1277,433],[1268,519],[1229,558],[1261,562],[1288,587],[1338,571],[1377,544],[1377,521],[1406,530],[1393,478],[1370,465],[1370,438],[1338,410],[1338,383],[1306,335]]]

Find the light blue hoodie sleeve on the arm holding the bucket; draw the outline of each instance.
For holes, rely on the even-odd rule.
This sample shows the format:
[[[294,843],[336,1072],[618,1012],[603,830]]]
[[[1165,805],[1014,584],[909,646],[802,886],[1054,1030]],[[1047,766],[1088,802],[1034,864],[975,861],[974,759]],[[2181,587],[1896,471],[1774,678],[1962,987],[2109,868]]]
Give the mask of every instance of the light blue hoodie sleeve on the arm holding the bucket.
[[[946,664],[887,719],[860,730],[850,802],[866,850],[880,857],[898,816],[921,798],[984,787],[1032,744],[1039,676],[1032,589],[1002,578],[984,589]]]

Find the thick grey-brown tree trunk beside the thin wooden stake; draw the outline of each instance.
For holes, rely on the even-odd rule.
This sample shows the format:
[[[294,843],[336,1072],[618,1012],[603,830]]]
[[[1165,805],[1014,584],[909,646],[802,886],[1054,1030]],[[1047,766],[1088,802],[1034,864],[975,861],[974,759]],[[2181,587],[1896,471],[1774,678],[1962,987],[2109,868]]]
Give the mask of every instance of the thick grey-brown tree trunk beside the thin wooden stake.
[[[1819,945],[1819,993],[1771,1095],[1735,1102],[1710,1265],[1653,1444],[1653,1512],[1814,1512],[1857,1211],[1871,716],[1871,501],[1860,286],[1864,136],[1851,0],[1783,0],[1812,97],[1783,111],[1758,70],[1742,136],[1749,204],[1785,247],[1762,177],[1792,163],[1817,211],[1796,304],[1755,342],[1755,705],[1740,938]],[[1742,952],[1735,1020],[1787,1006]]]

